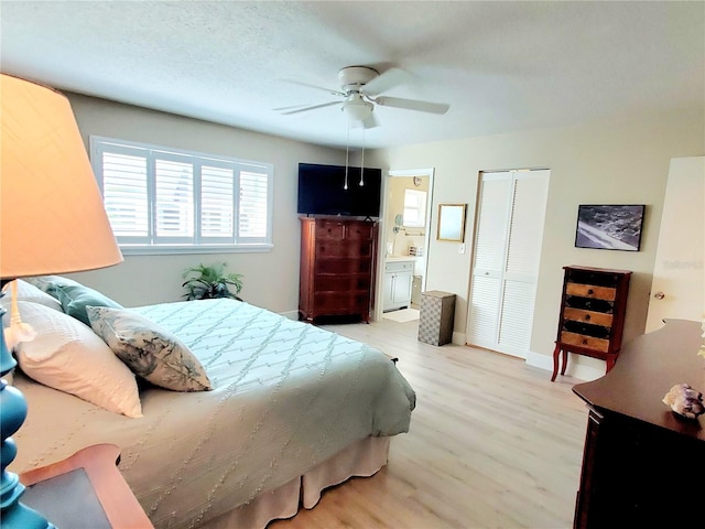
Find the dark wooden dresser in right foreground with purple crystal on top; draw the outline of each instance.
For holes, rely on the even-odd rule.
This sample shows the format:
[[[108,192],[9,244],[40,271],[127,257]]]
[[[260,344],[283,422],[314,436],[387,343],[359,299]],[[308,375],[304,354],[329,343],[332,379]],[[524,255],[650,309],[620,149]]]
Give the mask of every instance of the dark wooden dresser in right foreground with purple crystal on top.
[[[705,392],[702,332],[666,320],[625,344],[607,375],[573,387],[588,409],[575,529],[705,527],[705,415],[661,402],[676,384]]]

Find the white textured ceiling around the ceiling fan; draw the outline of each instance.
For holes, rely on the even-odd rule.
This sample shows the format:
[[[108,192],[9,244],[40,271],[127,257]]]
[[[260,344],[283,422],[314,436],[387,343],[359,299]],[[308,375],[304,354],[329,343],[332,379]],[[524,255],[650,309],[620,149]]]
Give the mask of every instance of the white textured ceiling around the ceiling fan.
[[[0,2],[0,66],[59,89],[344,147],[339,89],[367,65],[410,75],[377,107],[379,148],[705,107],[705,2]],[[350,145],[362,129],[349,132]]]

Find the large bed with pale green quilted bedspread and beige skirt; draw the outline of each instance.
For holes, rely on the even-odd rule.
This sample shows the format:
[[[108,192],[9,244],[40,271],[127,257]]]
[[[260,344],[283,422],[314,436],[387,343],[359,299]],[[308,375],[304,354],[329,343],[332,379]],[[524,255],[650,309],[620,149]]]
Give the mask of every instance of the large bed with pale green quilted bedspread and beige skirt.
[[[366,344],[235,300],[124,309],[94,299],[82,307],[89,315],[88,327],[67,311],[70,300],[52,295],[54,301],[39,302],[41,288],[22,290],[35,296],[17,299],[23,320],[39,336],[17,347],[22,369],[13,384],[26,397],[30,412],[13,436],[19,454],[10,469],[29,471],[96,443],[117,444],[120,469],[156,528],[261,528],[294,516],[302,506],[313,508],[324,488],[375,474],[387,463],[390,438],[409,431],[414,391],[389,357]],[[58,306],[52,306],[56,301]],[[45,350],[53,327],[62,325],[72,327],[64,332],[69,346],[59,347],[62,354],[33,353],[32,347]],[[142,373],[139,365],[130,366],[132,381],[122,378],[115,387],[113,375],[89,375],[95,366],[88,364],[99,356],[94,349],[105,349],[98,344],[115,355],[96,369],[112,366],[120,354],[105,327],[139,334],[141,326],[183,345],[206,377],[197,384],[209,382],[210,388],[158,387],[132,375]],[[102,339],[95,343],[98,335]],[[150,347],[156,343],[140,339]],[[86,348],[85,343],[90,353],[79,357],[73,349]],[[40,367],[51,370],[50,356],[58,365],[52,369],[62,373],[39,373],[42,361]],[[193,375],[194,365],[185,364],[185,373]],[[62,385],[63,390],[48,387]],[[96,400],[79,395],[87,386],[113,400],[124,392],[118,399],[122,412],[106,409],[113,402],[87,401]]]

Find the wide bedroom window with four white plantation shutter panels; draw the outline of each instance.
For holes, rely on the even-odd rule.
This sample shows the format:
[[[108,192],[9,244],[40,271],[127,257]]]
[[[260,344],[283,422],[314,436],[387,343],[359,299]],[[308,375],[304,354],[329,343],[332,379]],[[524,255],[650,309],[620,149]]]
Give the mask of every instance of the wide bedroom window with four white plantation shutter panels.
[[[271,164],[99,137],[90,159],[128,252],[271,247]]]

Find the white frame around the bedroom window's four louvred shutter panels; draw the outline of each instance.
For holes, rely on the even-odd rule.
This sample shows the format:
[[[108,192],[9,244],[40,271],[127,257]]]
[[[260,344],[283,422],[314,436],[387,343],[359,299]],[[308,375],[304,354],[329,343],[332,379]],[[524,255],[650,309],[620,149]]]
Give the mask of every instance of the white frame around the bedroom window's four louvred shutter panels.
[[[117,140],[100,136],[90,137],[90,163],[98,182],[100,193],[104,195],[104,153],[128,154],[144,158],[147,161],[147,199],[148,199],[148,235],[144,236],[116,236],[118,245],[124,255],[156,255],[156,253],[216,253],[237,251],[269,251],[272,244],[272,217],[273,217],[273,183],[274,169],[271,163],[241,160],[236,158],[207,154],[195,151],[185,151],[167,147],[148,143]],[[192,166],[193,187],[193,237],[164,237],[156,234],[156,201],[155,201],[155,161],[166,160],[182,162]],[[227,237],[207,237],[202,235],[202,204],[200,204],[200,174],[202,166],[232,170],[232,233]],[[247,224],[241,216],[240,176],[243,174],[265,175],[265,227],[262,236],[241,235]],[[261,207],[261,204],[257,205]],[[261,215],[262,212],[259,212]],[[108,212],[110,217],[110,212]],[[261,217],[260,217],[261,218]]]

